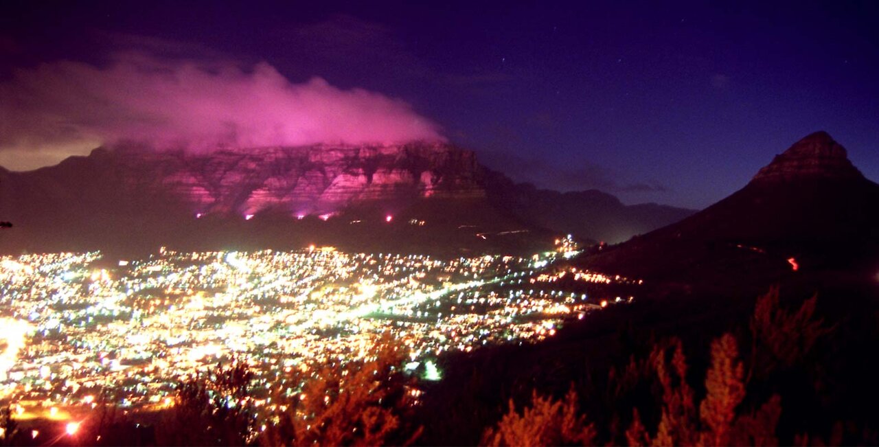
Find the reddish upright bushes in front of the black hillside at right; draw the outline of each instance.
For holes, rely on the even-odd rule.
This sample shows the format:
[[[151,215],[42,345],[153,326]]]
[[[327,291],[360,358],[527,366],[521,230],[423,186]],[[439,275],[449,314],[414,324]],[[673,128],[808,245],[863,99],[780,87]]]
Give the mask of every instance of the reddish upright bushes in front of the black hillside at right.
[[[781,418],[781,397],[774,393],[759,404],[754,399],[749,401],[746,399],[748,381],[752,375],[766,377],[781,368],[793,367],[809,355],[815,342],[830,331],[822,321],[813,318],[814,310],[814,298],[793,313],[781,309],[777,289],[760,297],[750,324],[749,374],[745,375],[745,362],[741,359],[736,336],[723,334],[711,342],[705,392],[698,402],[694,388],[687,382],[686,356],[678,338],[657,343],[647,359],[632,358],[621,375],[612,371],[610,395],[622,397],[636,393],[640,387],[650,389],[655,397],[646,399],[648,405],[628,409],[631,417],[627,418],[630,422],[624,431],[618,424],[606,428],[607,442],[656,447],[778,445],[776,431]],[[578,415],[578,400],[573,387],[563,401],[542,397],[535,391],[531,406],[521,413],[515,411],[511,400],[509,413],[495,428],[485,431],[483,443],[594,444],[598,440],[597,430],[593,422],[587,423],[585,415]],[[614,411],[614,408],[608,405],[607,410]],[[644,413],[659,415],[653,429],[643,421]],[[622,419],[619,415],[614,418],[615,421]],[[808,436],[798,436],[798,439],[806,440]]]

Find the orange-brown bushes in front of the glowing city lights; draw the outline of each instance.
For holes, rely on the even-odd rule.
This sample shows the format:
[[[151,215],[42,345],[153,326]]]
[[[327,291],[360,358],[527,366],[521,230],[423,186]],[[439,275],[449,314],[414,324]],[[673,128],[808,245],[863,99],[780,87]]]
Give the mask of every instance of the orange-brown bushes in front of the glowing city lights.
[[[384,335],[361,361],[291,370],[272,402],[256,414],[252,372],[236,362],[181,381],[175,405],[157,431],[167,445],[380,445],[410,443],[419,431],[403,422],[413,388],[405,352]]]

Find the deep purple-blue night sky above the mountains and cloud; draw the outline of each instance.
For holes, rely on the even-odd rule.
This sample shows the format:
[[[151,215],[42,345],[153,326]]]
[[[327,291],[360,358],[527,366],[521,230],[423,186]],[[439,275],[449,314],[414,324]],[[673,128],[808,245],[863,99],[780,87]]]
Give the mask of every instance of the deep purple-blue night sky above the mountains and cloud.
[[[874,1],[4,2],[0,94],[16,99],[0,97],[0,119],[17,127],[0,130],[41,132],[16,121],[17,107],[30,117],[46,104],[22,102],[40,96],[39,85],[22,87],[33,70],[61,61],[102,70],[120,54],[158,71],[156,61],[203,63],[208,74],[265,62],[284,85],[319,76],[329,86],[309,85],[424,117],[406,132],[438,129],[517,180],[598,188],[626,203],[710,205],[817,130],[879,179]],[[354,88],[378,97],[352,99]],[[65,101],[74,105],[41,119],[65,119],[57,111],[77,99]],[[11,169],[88,152],[63,135],[28,148],[12,140],[0,135],[0,164]]]

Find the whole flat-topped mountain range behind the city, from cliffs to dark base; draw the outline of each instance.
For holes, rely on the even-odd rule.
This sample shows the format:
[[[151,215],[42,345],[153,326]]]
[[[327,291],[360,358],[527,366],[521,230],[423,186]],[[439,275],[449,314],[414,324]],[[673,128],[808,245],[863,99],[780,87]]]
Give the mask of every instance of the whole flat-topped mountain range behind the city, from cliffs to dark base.
[[[98,148],[0,169],[0,250],[534,249],[552,234],[619,242],[690,210],[600,191],[514,184],[440,143],[221,149]]]

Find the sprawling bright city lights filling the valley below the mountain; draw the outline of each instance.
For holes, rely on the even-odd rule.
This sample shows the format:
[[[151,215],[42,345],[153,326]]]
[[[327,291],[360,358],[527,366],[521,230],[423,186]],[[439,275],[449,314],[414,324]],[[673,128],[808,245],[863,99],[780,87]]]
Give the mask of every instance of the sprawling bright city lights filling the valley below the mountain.
[[[272,386],[293,368],[363,358],[387,331],[425,379],[439,379],[432,359],[445,352],[538,341],[599,307],[585,293],[525,288],[562,253],[441,260],[312,246],[162,250],[113,266],[97,252],[0,258],[0,397],[62,420],[107,390],[122,407],[167,407],[178,378],[234,356],[265,390],[254,405],[271,407]]]

